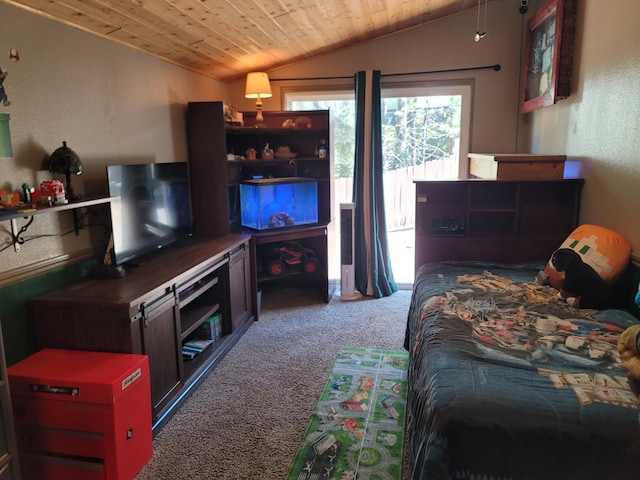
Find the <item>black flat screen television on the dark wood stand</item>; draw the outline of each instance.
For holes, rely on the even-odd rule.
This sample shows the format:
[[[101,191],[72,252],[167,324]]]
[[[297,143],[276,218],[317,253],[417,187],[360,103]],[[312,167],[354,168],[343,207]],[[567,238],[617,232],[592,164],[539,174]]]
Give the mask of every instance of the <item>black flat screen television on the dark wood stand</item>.
[[[193,233],[186,162],[108,165],[113,260],[139,260]]]

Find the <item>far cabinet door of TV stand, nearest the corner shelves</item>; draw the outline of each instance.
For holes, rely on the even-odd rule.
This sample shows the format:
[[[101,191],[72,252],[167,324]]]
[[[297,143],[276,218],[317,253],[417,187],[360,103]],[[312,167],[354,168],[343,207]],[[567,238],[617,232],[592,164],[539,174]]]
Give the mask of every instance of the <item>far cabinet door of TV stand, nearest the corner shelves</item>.
[[[239,328],[251,316],[251,270],[247,244],[229,257],[229,296],[231,324]]]

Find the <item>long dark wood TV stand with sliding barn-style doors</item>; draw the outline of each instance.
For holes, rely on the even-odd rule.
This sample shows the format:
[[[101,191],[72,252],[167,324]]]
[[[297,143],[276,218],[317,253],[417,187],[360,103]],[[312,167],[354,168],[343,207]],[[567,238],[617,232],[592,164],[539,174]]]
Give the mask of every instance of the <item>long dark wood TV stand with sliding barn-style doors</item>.
[[[148,355],[156,433],[254,320],[253,245],[242,234],[189,240],[145,259],[131,275],[36,297],[37,347]],[[183,344],[214,317],[219,338],[183,359]]]

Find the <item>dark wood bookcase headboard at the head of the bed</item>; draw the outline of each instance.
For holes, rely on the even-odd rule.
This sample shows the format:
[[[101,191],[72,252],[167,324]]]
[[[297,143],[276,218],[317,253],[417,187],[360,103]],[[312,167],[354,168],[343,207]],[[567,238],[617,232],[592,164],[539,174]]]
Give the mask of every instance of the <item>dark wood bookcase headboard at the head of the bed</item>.
[[[582,179],[416,181],[416,269],[546,261],[578,225]]]

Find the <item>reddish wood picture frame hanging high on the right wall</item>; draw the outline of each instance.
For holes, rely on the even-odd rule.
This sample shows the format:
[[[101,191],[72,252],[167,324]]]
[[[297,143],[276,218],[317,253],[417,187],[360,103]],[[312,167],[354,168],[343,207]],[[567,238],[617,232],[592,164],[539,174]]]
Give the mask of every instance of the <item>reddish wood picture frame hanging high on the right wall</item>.
[[[527,23],[522,113],[569,96],[575,9],[576,0],[547,0]]]

